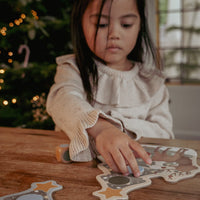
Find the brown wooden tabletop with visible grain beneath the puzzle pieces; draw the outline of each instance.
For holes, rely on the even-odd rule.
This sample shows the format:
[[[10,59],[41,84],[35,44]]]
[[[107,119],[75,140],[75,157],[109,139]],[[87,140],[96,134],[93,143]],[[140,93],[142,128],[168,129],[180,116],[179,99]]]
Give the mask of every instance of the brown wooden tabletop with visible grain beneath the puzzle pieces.
[[[0,127],[0,197],[30,188],[33,182],[55,180],[63,189],[55,200],[95,200],[100,189],[96,176],[102,172],[94,162],[58,163],[56,146],[67,143],[62,132]],[[141,143],[193,148],[200,164],[200,141],[142,139]],[[200,200],[200,175],[166,183],[162,178],[152,185],[129,193],[130,200]]]

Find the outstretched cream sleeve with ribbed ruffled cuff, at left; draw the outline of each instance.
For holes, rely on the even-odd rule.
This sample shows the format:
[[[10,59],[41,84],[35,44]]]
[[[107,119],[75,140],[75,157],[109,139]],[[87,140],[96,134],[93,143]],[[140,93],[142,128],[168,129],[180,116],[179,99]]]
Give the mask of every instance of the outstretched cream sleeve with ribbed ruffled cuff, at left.
[[[62,60],[57,62],[55,84],[47,98],[47,112],[56,126],[68,135],[70,158],[74,161],[89,161],[92,155],[86,129],[96,123],[100,111],[85,100],[78,69]]]

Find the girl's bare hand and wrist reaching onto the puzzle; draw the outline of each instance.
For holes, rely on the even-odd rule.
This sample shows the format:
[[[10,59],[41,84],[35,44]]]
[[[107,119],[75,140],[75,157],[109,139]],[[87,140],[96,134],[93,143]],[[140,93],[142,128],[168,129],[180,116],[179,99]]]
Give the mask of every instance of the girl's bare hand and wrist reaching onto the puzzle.
[[[87,129],[87,132],[95,139],[98,152],[113,171],[127,175],[128,164],[134,176],[138,177],[140,171],[133,151],[147,164],[152,162],[138,142],[104,119],[99,118],[92,128]]]

